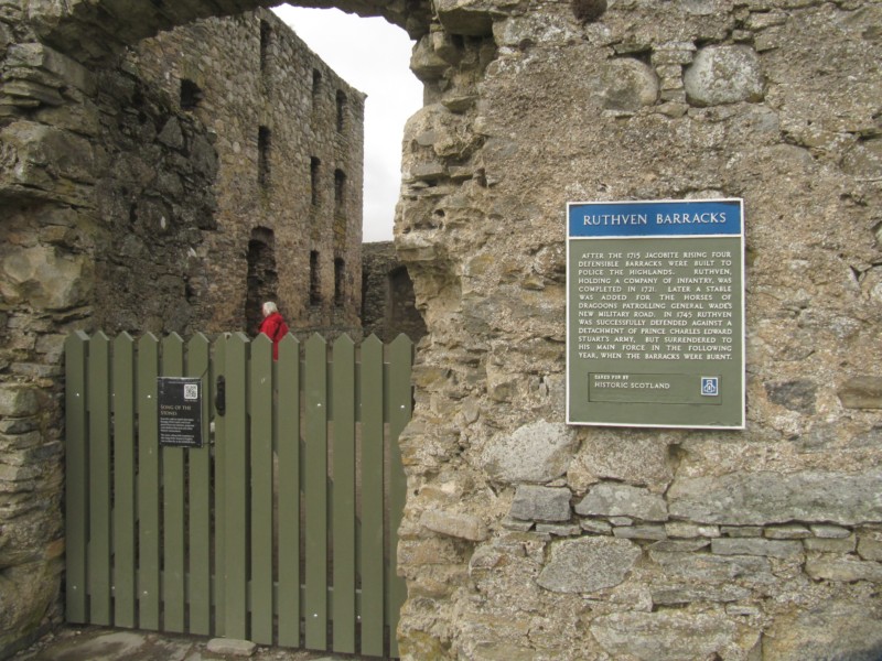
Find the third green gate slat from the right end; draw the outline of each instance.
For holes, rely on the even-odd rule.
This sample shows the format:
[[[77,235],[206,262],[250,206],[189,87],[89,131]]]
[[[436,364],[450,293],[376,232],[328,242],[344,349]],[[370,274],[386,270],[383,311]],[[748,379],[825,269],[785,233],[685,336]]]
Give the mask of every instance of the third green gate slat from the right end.
[[[334,621],[336,652],[355,652],[355,344],[334,343],[334,464],[332,492]]]

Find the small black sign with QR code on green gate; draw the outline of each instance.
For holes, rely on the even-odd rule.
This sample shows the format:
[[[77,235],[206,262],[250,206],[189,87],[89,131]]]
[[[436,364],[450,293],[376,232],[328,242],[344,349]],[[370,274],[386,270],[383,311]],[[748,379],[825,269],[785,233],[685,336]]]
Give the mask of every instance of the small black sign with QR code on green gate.
[[[202,447],[202,380],[159,377],[159,444]]]

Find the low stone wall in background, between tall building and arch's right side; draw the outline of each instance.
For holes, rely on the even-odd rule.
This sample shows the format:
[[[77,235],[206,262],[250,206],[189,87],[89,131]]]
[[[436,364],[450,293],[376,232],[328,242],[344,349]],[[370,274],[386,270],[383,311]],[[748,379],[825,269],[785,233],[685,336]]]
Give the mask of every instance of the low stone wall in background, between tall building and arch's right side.
[[[362,330],[383,342],[404,333],[415,343],[426,335],[416,306],[413,281],[395,253],[391,241],[362,247]]]

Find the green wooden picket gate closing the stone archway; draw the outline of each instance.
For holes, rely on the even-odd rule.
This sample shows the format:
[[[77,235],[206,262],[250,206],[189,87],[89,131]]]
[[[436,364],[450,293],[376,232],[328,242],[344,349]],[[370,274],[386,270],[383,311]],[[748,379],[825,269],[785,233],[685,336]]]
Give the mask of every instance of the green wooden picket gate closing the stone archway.
[[[278,360],[265,336],[68,336],[67,621],[397,657],[412,357],[405,336],[289,335]],[[161,443],[172,377],[198,379],[201,447]]]

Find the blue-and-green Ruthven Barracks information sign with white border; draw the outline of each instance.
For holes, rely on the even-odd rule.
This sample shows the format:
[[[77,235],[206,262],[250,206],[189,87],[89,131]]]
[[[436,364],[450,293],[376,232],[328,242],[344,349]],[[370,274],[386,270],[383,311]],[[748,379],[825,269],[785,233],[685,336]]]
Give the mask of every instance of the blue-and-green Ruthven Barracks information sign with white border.
[[[567,421],[742,429],[742,202],[570,203],[567,223]]]

